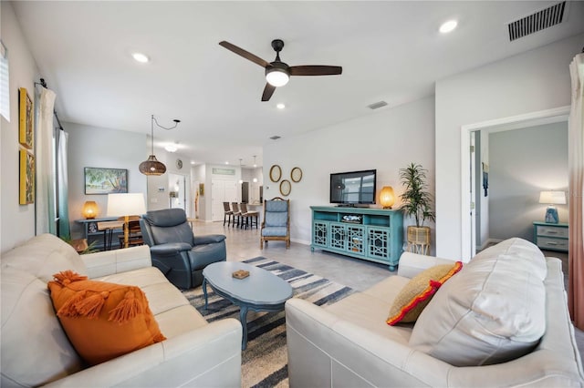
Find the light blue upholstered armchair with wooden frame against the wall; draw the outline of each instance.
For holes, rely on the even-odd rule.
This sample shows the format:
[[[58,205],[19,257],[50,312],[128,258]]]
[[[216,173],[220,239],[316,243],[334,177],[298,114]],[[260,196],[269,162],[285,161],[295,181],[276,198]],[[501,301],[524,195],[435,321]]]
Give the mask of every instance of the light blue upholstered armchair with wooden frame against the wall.
[[[290,248],[290,200],[269,199],[264,201],[264,221],[260,230],[259,248],[264,249],[268,240],[286,241]]]

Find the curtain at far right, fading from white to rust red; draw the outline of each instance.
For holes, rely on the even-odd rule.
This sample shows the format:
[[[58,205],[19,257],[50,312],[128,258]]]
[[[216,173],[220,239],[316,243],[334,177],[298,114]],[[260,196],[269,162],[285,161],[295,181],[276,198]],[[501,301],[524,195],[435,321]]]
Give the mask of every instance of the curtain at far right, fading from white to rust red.
[[[569,70],[572,105],[568,127],[568,308],[576,327],[584,330],[584,54],[574,57]]]

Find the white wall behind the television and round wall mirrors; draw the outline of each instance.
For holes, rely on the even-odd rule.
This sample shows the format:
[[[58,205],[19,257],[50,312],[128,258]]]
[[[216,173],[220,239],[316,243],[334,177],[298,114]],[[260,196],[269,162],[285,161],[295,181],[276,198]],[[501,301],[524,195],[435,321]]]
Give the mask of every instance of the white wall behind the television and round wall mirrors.
[[[302,180],[292,182],[290,199],[290,238],[310,243],[310,206],[328,206],[329,174],[377,168],[377,189],[392,186],[403,191],[399,169],[411,162],[428,169],[429,187],[434,182],[434,99],[423,98],[411,104],[371,112],[328,128],[295,138],[280,138],[264,147],[264,198],[280,197],[279,183],[269,179],[270,167],[282,168],[283,179],[290,170],[302,168]],[[400,206],[398,199],[394,208]],[[380,206],[380,205],[378,205]],[[406,222],[411,223],[411,222]]]

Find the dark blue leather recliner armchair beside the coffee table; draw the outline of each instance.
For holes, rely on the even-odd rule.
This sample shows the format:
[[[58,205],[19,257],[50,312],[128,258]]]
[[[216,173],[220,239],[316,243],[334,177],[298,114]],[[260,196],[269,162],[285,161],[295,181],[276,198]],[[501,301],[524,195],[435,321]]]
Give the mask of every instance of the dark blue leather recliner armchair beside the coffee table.
[[[227,259],[225,236],[194,236],[183,209],[149,211],[140,227],[152,264],[181,290],[201,285],[204,267]]]

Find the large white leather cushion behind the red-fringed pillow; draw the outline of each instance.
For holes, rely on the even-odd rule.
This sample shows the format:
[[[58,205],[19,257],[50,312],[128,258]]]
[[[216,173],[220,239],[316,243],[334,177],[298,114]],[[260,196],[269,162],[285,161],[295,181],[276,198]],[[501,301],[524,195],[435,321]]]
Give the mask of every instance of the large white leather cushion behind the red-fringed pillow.
[[[457,366],[530,352],[546,331],[546,261],[521,239],[483,250],[422,311],[410,345]]]

